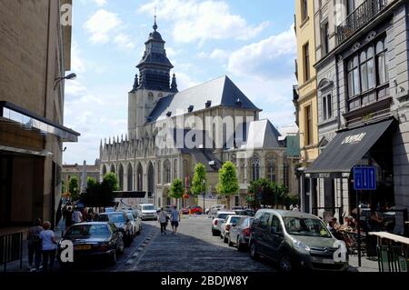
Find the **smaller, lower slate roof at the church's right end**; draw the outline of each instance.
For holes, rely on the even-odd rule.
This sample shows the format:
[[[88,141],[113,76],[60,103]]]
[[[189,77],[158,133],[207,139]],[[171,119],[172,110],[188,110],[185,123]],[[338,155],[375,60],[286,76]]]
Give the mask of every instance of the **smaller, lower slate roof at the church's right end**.
[[[280,133],[267,119],[250,122],[247,142],[242,148],[278,148]]]

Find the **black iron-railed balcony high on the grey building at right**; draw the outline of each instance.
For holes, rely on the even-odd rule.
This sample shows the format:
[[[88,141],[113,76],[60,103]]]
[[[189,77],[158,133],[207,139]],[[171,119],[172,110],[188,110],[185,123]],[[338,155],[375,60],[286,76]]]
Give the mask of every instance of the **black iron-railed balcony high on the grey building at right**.
[[[348,15],[344,21],[336,27],[336,41],[340,45],[351,35],[354,35],[360,28],[369,23],[378,15],[386,5],[388,0],[366,0],[358,6],[353,13]]]

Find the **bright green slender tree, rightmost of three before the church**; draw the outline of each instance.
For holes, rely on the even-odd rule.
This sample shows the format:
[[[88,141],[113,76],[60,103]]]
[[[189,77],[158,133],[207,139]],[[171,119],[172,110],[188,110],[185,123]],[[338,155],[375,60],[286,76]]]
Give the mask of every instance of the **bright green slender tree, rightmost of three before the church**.
[[[235,195],[239,190],[235,165],[227,161],[219,169],[219,182],[216,185],[219,195]],[[229,196],[230,197],[230,196]],[[230,198],[227,198],[227,207],[230,207]]]

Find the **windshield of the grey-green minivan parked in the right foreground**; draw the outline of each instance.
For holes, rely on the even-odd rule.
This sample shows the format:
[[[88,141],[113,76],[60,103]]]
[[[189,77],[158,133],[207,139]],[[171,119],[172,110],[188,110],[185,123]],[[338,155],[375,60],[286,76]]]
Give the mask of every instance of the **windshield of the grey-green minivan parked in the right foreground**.
[[[317,218],[285,216],[284,225],[290,235],[332,237],[323,222]]]

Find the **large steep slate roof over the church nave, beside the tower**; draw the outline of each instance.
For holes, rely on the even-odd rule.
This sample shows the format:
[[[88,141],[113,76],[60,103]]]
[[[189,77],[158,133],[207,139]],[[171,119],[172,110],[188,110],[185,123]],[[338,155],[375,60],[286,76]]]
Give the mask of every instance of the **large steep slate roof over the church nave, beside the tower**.
[[[207,101],[211,102],[209,107],[222,105],[261,111],[234,85],[230,78],[224,75],[204,84],[188,88],[185,91],[161,98],[151,115],[149,115],[148,122],[165,119],[168,112],[171,112],[172,116],[186,114],[191,105],[193,105],[193,112],[203,110],[206,108],[205,103]]]

